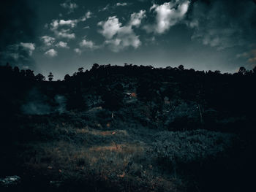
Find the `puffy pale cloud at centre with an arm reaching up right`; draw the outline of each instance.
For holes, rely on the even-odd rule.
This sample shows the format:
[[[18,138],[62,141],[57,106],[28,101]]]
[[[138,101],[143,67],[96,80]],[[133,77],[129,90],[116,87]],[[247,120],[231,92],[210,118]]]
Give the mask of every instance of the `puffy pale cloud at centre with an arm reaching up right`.
[[[119,52],[126,47],[138,48],[141,42],[132,27],[140,26],[141,20],[146,17],[145,13],[146,11],[144,10],[140,10],[138,13],[132,13],[129,23],[126,26],[122,26],[116,16],[99,22],[98,26],[102,27],[99,33],[106,38],[105,45],[108,45],[113,52]]]

